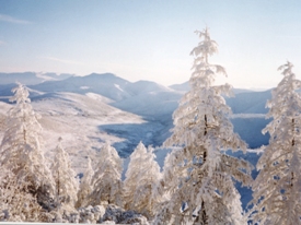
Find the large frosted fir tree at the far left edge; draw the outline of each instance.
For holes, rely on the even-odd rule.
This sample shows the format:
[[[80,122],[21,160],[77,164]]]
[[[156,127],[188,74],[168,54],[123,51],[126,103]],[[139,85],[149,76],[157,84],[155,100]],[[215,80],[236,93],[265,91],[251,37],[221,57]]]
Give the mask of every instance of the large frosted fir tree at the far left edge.
[[[14,191],[14,198],[18,197],[18,191],[23,192],[19,197],[32,194],[35,201],[43,208],[47,208],[51,200],[54,179],[42,151],[42,127],[37,120],[38,115],[34,112],[31,106],[30,93],[24,85],[19,83],[12,92],[14,96],[10,100],[16,102],[16,104],[8,112],[4,135],[0,146],[0,168],[10,171],[8,174],[10,178],[1,179],[0,186],[5,191]],[[16,182],[15,187],[11,189],[10,182]],[[27,201],[23,198],[20,199],[20,202],[18,200],[14,202],[32,204],[22,202],[23,200]],[[13,208],[13,205],[11,206]]]

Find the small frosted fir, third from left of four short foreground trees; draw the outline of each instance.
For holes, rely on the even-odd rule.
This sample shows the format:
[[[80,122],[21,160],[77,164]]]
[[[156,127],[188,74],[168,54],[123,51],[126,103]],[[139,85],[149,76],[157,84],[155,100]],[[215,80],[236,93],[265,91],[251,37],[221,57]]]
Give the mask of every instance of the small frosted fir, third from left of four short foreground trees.
[[[89,197],[89,203],[99,205],[105,201],[123,206],[123,159],[108,142],[101,150],[99,157],[92,178],[93,191]]]

